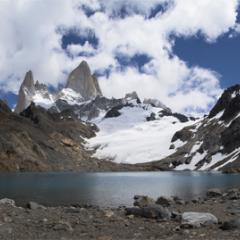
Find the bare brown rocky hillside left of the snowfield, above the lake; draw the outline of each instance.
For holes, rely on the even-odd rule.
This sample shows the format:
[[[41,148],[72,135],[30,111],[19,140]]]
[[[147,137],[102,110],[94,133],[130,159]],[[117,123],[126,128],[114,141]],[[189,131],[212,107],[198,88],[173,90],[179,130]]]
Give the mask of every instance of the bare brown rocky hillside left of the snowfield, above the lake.
[[[83,147],[91,124],[51,113],[33,103],[21,115],[0,111],[0,171],[98,169]]]

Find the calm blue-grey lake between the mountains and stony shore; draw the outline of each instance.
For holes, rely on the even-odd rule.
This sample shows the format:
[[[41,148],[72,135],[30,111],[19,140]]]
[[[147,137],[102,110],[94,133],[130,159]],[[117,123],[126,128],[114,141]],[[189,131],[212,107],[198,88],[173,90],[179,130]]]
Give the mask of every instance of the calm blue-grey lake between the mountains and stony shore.
[[[203,196],[208,188],[240,187],[240,174],[210,172],[109,172],[109,173],[1,173],[0,198],[18,205],[35,201],[46,206],[97,205],[131,206],[136,194]]]

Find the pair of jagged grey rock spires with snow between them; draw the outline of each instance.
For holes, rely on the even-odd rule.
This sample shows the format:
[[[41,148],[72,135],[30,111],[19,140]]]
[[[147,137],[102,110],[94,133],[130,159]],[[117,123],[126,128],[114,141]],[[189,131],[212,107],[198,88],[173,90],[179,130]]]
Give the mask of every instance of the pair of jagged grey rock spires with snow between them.
[[[71,104],[75,104],[94,99],[96,96],[102,96],[102,91],[97,77],[91,74],[86,61],[82,61],[70,73],[66,87],[55,93],[50,93],[47,85],[39,81],[35,83],[32,71],[28,71],[19,90],[15,112],[22,112],[31,102],[35,102],[37,105],[45,108],[50,108],[55,105],[58,99],[67,100],[67,102],[71,100]]]

